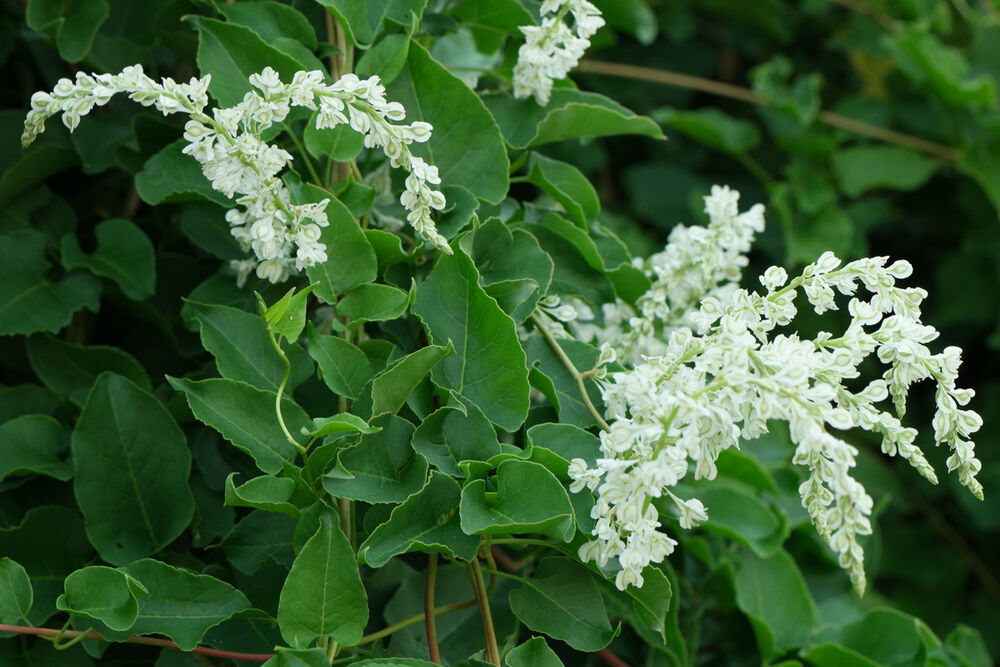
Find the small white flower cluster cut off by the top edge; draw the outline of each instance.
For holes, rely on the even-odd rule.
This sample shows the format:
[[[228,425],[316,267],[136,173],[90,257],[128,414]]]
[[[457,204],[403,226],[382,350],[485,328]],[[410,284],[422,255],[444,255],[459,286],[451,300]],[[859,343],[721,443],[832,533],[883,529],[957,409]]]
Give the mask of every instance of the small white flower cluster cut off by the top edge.
[[[572,28],[564,20],[570,13]],[[534,95],[535,101],[545,106],[552,82],[565,78],[576,67],[604,19],[587,0],[544,0],[541,14],[541,25],[521,26],[527,41],[517,52],[514,97]]]

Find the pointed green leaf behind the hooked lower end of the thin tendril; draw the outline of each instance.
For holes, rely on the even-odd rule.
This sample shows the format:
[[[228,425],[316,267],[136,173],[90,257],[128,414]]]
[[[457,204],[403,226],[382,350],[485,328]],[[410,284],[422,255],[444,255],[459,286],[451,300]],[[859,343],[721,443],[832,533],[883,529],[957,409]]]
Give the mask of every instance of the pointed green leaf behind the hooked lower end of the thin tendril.
[[[281,472],[298,454],[285,437],[274,412],[277,395],[248,384],[226,379],[194,382],[167,376],[170,386],[184,392],[191,412],[229,442],[253,458],[269,475]],[[312,425],[309,416],[291,399],[281,403],[289,433],[301,433]]]

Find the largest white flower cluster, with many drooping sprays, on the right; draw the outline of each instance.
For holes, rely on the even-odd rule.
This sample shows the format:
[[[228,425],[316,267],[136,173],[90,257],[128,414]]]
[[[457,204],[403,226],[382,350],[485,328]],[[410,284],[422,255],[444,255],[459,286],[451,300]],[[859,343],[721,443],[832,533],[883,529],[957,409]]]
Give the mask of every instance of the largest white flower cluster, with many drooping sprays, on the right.
[[[752,235],[748,230],[759,231],[762,217],[756,207],[737,216],[735,193],[722,190],[708,198],[710,209],[721,201],[720,192],[728,203],[713,214],[713,224],[750,216],[745,224],[730,224],[730,233],[722,237],[726,250],[719,249],[718,257],[729,265],[690,270],[689,251],[697,247],[692,237],[710,234],[711,226],[702,234],[686,230],[676,239],[680,247],[668,246],[660,255],[663,265],[676,267],[679,284],[671,284],[671,275],[664,273],[640,300],[640,308],[646,319],[670,322],[669,306],[676,304],[682,324],[665,330],[657,354],[643,357],[631,370],[609,373],[602,391],[611,425],[601,434],[602,458],[595,468],[582,459],[572,462],[571,489],[597,492],[595,539],[581,548],[580,556],[602,566],[617,558],[622,567],[617,586],[641,586],[643,568],[661,561],[676,544],[659,530],[652,500],[666,496],[672,501],[684,528],[704,521],[704,505],[677,497],[670,487],[687,475],[689,462],[695,479],[713,479],[722,450],[738,447],[741,437],[758,437],[766,432],[767,420],[778,419],[789,424],[796,445],[793,462],[809,469],[799,487],[802,504],[862,591],[858,536],[871,532],[872,499],[851,476],[857,450],[834,433],[856,427],[877,433],[883,452],[902,456],[937,482],[914,444],[916,430],[900,421],[909,386],[932,379],[937,384],[935,441],[951,450],[948,470],[957,472],[960,482],[981,499],[976,480],[981,464],[968,438],[982,419],[959,407],[973,396],[972,390],[955,385],[961,351],[947,347],[932,354],[926,347],[938,332],[920,322],[927,293],[896,285],[912,271],[905,261],[886,266],[886,257],[875,257],[842,264],[827,252],[791,281],[784,269],[771,267],[760,277],[763,294],[735,287],[739,276],[733,267],[743,264],[740,255]],[[705,292],[694,310],[690,305],[698,301],[699,285]],[[817,313],[837,308],[836,292],[851,297],[851,322],[843,334],[824,332],[808,340],[774,333],[795,317],[800,289]],[[633,318],[631,324],[636,319],[643,318]],[[860,391],[847,388],[844,381],[858,378],[859,366],[872,355],[885,366],[881,378]],[[895,414],[877,405],[890,396]]]

